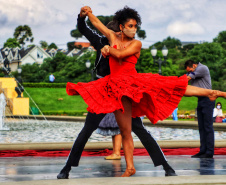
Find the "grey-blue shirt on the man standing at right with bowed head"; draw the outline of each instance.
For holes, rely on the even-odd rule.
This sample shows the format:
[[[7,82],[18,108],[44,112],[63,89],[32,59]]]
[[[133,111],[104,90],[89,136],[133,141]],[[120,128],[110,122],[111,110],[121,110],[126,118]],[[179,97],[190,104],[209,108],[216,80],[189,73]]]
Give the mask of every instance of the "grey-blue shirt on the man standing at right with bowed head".
[[[199,62],[194,72],[187,74],[191,77],[191,85],[204,89],[212,89],[209,68]]]

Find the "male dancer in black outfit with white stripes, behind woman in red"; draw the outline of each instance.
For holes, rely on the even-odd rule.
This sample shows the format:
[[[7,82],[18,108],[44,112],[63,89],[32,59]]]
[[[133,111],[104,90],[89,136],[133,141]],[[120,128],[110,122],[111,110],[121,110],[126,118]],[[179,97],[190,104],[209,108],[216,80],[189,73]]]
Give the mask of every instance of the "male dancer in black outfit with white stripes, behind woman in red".
[[[102,56],[100,51],[101,48],[103,48],[105,45],[109,45],[109,43],[106,37],[98,35],[86,25],[85,17],[86,15],[83,15],[81,11],[77,19],[78,29],[97,50],[95,70],[97,72],[97,78],[101,78],[110,74],[109,61],[107,58],[104,58]],[[111,29],[115,32],[119,31],[119,28],[117,27],[115,27],[114,29],[112,27]],[[105,115],[106,114],[95,114],[88,112],[85,125],[72,146],[71,152],[66,161],[66,165],[57,175],[58,179],[67,179],[71,170],[71,166],[78,166],[85,144],[87,143],[92,133],[97,129],[98,125]],[[177,176],[172,167],[167,163],[166,158],[158,143],[145,129],[139,117],[132,118],[132,131],[137,135],[137,137],[140,139],[140,141],[148,151],[154,165],[162,165],[165,170],[165,176]]]

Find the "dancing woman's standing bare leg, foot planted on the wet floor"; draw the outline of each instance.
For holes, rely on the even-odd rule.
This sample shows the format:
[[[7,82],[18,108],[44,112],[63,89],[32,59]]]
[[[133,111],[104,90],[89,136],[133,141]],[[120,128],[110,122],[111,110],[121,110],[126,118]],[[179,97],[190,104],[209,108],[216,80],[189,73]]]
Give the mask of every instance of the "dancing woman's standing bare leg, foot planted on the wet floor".
[[[122,177],[129,177],[134,175],[136,170],[133,164],[133,138],[131,135],[132,130],[132,104],[127,97],[122,97],[122,104],[124,107],[124,113],[117,110],[115,111],[115,118],[119,125],[122,135],[122,146],[126,159],[126,171]]]

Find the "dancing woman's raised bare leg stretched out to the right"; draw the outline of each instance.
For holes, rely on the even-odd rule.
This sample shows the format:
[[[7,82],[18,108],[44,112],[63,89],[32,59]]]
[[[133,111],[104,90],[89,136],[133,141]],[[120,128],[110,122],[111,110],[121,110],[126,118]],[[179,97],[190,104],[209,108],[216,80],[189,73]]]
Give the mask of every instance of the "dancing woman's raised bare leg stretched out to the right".
[[[188,85],[184,96],[206,96],[206,97],[209,97],[211,101],[214,101],[218,97],[226,98],[226,93],[222,91],[204,89],[204,88]]]

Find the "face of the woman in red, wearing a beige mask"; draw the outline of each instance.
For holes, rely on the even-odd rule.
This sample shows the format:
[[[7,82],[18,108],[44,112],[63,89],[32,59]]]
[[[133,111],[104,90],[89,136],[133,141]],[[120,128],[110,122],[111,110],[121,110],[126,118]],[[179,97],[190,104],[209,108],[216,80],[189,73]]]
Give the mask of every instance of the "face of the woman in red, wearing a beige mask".
[[[129,19],[124,25],[120,25],[121,31],[129,38],[134,38],[137,31],[137,21]]]

